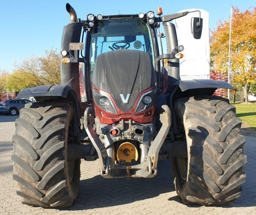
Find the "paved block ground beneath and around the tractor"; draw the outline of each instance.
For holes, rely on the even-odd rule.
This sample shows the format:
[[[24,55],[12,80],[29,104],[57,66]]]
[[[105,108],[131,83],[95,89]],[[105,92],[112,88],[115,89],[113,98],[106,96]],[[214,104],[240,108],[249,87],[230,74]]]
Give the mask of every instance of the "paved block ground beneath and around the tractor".
[[[20,202],[12,180],[12,135],[19,116],[0,115],[0,214],[11,215],[79,215],[79,214],[256,214],[256,137],[246,137],[248,163],[243,195],[236,203],[224,206],[185,205],[178,198],[173,182],[171,162],[159,161],[158,175],[151,179],[103,179],[99,162],[81,163],[80,193],[69,208],[44,209]]]

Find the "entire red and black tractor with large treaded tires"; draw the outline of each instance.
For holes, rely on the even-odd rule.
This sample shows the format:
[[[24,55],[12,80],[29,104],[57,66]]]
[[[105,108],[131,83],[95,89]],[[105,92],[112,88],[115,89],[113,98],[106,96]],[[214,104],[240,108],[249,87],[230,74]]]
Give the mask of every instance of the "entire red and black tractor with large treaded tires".
[[[80,159],[99,159],[104,178],[154,177],[158,160],[172,159],[184,203],[227,204],[241,196],[247,162],[241,120],[227,99],[212,95],[232,86],[180,80],[183,46],[170,21],[199,15],[191,19],[188,36],[200,40],[200,11],[88,14],[81,20],[69,4],[66,9],[71,19],[62,35],[62,85],[25,89],[17,97],[37,101],[20,111],[12,138],[13,179],[22,202],[72,205]],[[168,54],[162,53],[163,39]]]

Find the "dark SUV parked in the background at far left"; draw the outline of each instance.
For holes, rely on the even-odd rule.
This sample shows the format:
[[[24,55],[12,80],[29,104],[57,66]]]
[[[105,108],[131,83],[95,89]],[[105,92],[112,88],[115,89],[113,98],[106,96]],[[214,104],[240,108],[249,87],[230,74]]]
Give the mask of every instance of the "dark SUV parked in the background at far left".
[[[32,101],[27,99],[10,99],[1,101],[0,105],[0,114],[5,115],[17,115],[20,112],[21,108],[25,107],[25,104]]]

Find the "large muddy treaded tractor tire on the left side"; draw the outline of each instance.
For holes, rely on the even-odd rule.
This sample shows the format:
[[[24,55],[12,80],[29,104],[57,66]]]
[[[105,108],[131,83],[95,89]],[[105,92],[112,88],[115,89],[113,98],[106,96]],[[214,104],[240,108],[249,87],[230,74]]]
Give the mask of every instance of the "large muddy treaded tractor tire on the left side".
[[[26,104],[16,120],[13,179],[24,204],[41,207],[72,205],[79,191],[80,159],[68,162],[74,108],[68,102]]]

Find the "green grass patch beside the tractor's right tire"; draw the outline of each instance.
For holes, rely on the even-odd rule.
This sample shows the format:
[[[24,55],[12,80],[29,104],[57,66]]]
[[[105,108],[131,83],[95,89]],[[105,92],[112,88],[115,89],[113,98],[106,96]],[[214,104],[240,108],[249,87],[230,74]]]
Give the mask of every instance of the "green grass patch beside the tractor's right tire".
[[[245,122],[242,127],[256,130],[256,103],[233,105],[236,107],[236,116]]]

